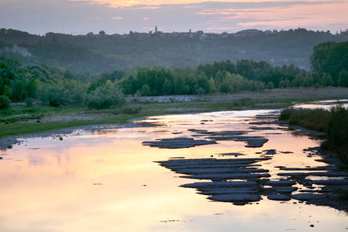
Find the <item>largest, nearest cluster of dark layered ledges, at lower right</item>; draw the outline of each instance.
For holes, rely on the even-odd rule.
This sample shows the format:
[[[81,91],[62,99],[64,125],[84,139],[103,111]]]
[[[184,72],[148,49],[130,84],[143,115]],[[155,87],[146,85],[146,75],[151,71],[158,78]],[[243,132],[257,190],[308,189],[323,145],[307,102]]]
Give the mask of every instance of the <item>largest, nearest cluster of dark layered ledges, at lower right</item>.
[[[340,170],[338,157],[328,154],[318,159],[329,163],[329,166],[276,167],[279,170],[276,179],[271,179],[269,170],[262,168],[262,162],[271,159],[264,155],[259,158],[173,159],[157,163],[182,174],[180,178],[204,180],[180,187],[194,188],[198,194],[208,195],[207,199],[212,201],[244,205],[267,197],[273,201],[295,199],[300,203],[305,201],[348,210],[347,202],[336,201],[340,194],[348,191],[348,172]]]

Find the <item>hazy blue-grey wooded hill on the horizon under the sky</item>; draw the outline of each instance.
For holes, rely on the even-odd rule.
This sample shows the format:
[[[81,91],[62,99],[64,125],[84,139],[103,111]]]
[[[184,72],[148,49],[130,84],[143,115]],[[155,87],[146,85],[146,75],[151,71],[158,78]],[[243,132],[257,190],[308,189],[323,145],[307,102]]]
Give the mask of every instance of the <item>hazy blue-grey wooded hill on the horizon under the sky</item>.
[[[139,66],[196,68],[200,64],[242,59],[271,65],[310,68],[313,47],[322,42],[344,42],[348,31],[245,30],[237,33],[136,33],[106,35],[61,33],[32,35],[0,29],[0,55],[24,65],[57,67],[72,72],[101,73]]]

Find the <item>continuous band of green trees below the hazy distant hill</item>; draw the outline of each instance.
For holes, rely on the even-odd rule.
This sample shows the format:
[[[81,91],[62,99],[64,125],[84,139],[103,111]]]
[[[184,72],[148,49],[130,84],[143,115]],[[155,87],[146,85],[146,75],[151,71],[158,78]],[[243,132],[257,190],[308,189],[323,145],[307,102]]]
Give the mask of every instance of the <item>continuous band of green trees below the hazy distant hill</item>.
[[[74,74],[47,65],[23,65],[0,56],[0,108],[34,100],[104,109],[122,104],[125,95],[196,95],[263,91],[268,88],[348,87],[348,42],[314,47],[311,71],[264,61],[220,61],[197,68],[139,67],[99,75]]]

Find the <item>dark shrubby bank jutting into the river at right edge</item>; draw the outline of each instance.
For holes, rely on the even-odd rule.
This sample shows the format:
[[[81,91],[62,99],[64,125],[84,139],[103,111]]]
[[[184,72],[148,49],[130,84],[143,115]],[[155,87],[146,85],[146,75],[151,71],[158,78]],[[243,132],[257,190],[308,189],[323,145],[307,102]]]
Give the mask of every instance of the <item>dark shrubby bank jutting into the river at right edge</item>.
[[[337,106],[324,109],[284,109],[279,117],[290,125],[300,125],[310,130],[326,133],[322,148],[332,150],[348,162],[348,109]]]

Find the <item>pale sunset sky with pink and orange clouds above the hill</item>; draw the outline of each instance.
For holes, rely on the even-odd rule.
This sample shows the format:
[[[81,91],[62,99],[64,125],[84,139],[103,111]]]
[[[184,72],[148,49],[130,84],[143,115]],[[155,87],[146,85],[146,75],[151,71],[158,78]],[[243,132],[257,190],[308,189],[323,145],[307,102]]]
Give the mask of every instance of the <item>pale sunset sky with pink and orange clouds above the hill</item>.
[[[348,29],[348,0],[0,0],[0,28],[44,34],[148,32],[229,33],[244,29],[296,29],[332,33]]]

